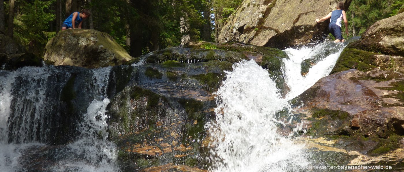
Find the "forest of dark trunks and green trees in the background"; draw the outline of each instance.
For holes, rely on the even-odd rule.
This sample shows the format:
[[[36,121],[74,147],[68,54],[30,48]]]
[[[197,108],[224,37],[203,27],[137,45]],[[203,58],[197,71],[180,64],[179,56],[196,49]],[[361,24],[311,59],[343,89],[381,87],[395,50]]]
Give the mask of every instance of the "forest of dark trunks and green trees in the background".
[[[227,18],[242,0],[0,0],[0,34],[42,56],[46,42],[73,12],[92,15],[85,29],[110,34],[133,57],[189,41],[217,42]],[[404,10],[404,0],[352,0],[349,36]],[[324,14],[326,15],[326,14]],[[321,17],[321,16],[319,16]],[[344,28],[342,28],[344,29]]]

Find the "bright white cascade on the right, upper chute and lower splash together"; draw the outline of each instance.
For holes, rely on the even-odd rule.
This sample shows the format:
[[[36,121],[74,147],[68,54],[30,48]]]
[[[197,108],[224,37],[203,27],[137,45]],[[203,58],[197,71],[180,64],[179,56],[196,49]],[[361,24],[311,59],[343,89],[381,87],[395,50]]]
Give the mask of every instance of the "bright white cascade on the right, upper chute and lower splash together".
[[[290,57],[284,59],[283,69],[290,87],[286,98],[282,98],[268,72],[252,60],[236,63],[233,71],[226,72],[227,79],[216,92],[216,120],[205,126],[211,137],[209,170],[299,171],[299,167],[310,164],[304,145],[293,141],[294,133],[281,131],[277,125],[292,123],[288,100],[332,70],[344,45],[329,45],[330,42],[324,42],[313,48],[285,50]],[[306,76],[301,76],[301,62],[325,48],[332,49],[331,53],[320,54],[324,57],[318,58],[320,61]],[[285,109],[289,111],[286,119],[276,115]]]

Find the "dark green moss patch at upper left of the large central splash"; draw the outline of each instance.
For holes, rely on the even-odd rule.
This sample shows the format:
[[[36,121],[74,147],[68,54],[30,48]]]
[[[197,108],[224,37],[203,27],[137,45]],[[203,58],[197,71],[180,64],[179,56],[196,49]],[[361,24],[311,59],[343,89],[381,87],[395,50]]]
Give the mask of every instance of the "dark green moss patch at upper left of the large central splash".
[[[198,80],[200,83],[206,85],[206,90],[213,92],[219,88],[224,76],[217,73],[197,74],[191,78]]]

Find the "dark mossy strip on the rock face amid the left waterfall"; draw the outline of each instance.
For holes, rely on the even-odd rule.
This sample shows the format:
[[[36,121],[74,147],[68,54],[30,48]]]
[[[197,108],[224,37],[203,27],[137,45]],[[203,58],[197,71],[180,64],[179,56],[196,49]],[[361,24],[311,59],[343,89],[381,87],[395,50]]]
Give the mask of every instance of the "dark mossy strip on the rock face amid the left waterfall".
[[[74,104],[72,100],[76,98],[76,91],[74,90],[74,81],[76,80],[76,74],[73,74],[72,77],[67,81],[65,86],[62,89],[60,99],[67,104],[67,112],[70,114],[74,111]]]

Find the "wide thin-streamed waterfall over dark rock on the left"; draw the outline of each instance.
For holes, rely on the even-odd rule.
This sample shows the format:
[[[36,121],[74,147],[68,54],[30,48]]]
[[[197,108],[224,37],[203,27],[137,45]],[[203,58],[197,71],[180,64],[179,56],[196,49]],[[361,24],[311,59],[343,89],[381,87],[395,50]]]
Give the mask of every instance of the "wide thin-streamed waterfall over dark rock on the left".
[[[37,163],[45,171],[116,171],[115,144],[107,141],[105,115],[110,72],[111,67],[84,70],[45,66],[24,67],[15,72],[1,70],[0,169],[30,171]],[[70,124],[64,119],[72,117],[63,116],[66,105],[59,101],[73,75],[73,78],[85,80],[78,83],[85,94],[77,97],[87,110],[78,113],[77,122]],[[73,142],[49,144],[61,140],[60,135],[66,132],[61,128],[69,125],[74,125]],[[34,161],[39,162],[34,163],[29,157],[35,155],[43,156],[35,157],[38,159]]]

